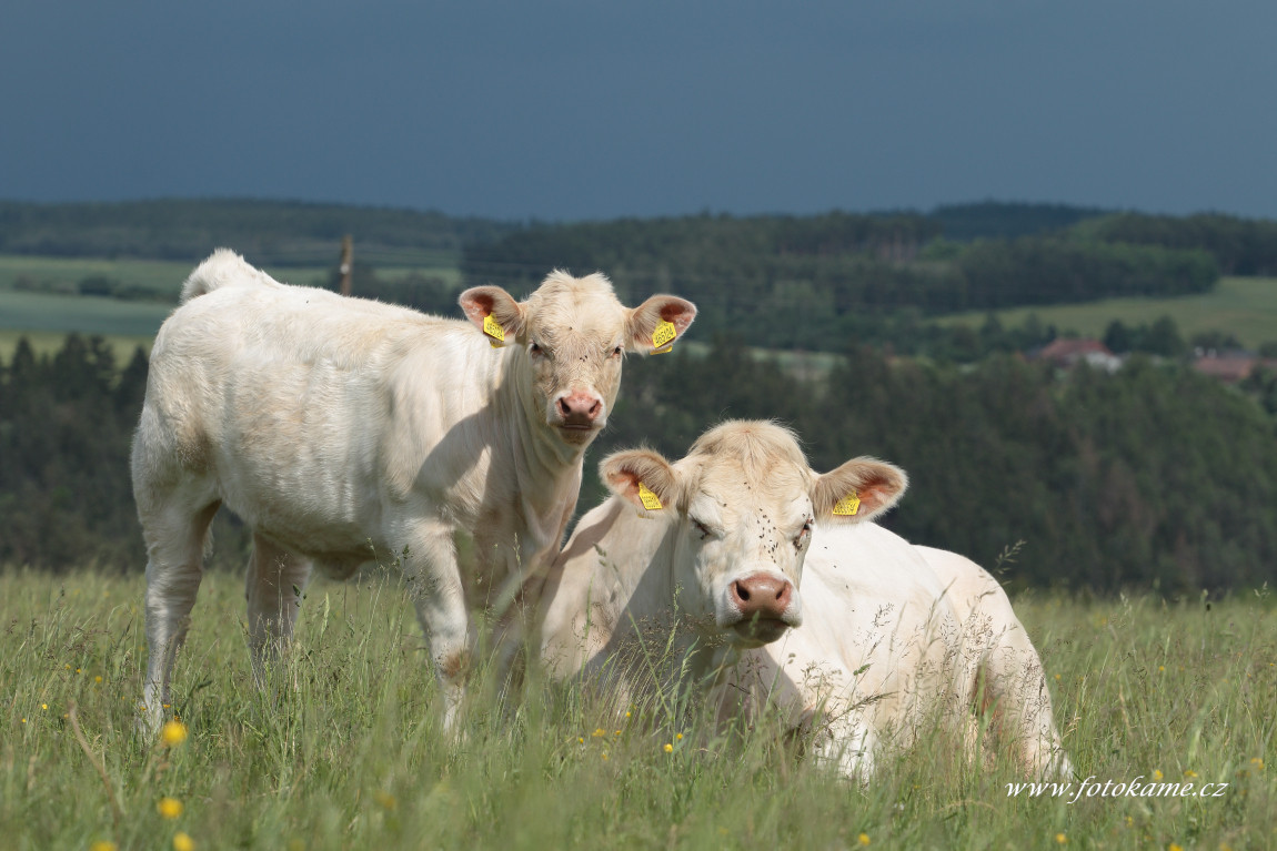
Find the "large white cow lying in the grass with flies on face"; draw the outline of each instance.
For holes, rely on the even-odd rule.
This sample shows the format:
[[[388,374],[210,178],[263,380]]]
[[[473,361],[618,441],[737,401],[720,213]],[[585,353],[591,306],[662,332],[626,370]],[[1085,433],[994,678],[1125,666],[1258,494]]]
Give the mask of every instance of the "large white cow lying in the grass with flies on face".
[[[759,444],[770,466],[742,463]],[[787,433],[747,422],[707,433],[677,464],[649,452],[604,459],[617,495],[581,519],[541,589],[540,651],[552,675],[604,677],[627,699],[636,669],[626,652],[659,652],[673,635],[676,657],[691,651],[684,674],[705,681],[718,667],[706,699],[722,720],[752,722],[773,708],[788,729],[813,734],[817,759],[847,776],[867,776],[876,750],[946,720],[974,741],[973,711],[985,708],[1025,771],[1066,773],[1041,662],[996,582],[873,523],[824,523],[839,494],[859,498],[850,521],[872,519],[902,495],[904,476],[866,459],[812,495],[822,528],[807,552],[793,508],[803,504],[806,470]],[[664,487],[665,508],[642,508],[636,481]],[[789,583],[802,572],[801,624],[766,612],[780,623],[751,640],[733,583],[760,564],[770,574],[776,555]],[[766,639],[779,640],[756,646]]]

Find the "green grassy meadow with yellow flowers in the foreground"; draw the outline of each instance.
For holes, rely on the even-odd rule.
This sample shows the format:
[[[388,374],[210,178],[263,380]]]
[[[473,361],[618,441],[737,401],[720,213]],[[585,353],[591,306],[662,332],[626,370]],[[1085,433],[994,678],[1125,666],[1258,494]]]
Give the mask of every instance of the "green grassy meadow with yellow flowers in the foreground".
[[[5,847],[1277,847],[1271,597],[1018,601],[1079,780],[1227,783],[1070,804],[1010,795],[1009,766],[968,764],[940,734],[856,785],[762,729],[728,741],[692,711],[621,718],[536,686],[472,708],[458,744],[406,597],[377,578],[310,588],[267,697],[241,579],[208,575],[175,676],[189,739],[151,746],[132,732],[140,593],[137,577],[0,574]]]

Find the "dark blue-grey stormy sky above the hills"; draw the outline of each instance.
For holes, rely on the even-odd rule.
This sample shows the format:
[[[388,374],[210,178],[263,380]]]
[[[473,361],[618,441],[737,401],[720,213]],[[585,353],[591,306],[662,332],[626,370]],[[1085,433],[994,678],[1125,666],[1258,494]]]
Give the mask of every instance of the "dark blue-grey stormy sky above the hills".
[[[9,0],[0,198],[1277,217],[1277,3]]]

